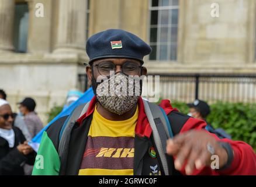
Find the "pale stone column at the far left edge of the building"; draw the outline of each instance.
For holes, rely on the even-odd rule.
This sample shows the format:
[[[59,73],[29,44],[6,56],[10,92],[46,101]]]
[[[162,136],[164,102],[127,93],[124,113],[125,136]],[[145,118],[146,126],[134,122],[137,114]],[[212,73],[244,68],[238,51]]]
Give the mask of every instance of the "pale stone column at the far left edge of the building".
[[[0,53],[13,50],[14,0],[0,0]]]

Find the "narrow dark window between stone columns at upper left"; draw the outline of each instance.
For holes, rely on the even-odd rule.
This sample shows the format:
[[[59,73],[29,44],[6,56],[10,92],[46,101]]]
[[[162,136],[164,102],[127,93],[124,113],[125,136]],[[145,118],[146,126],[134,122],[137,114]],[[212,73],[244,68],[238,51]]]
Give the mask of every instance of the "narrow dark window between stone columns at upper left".
[[[14,39],[13,46],[15,52],[26,53],[27,33],[29,29],[29,7],[27,3],[17,3],[15,5]]]

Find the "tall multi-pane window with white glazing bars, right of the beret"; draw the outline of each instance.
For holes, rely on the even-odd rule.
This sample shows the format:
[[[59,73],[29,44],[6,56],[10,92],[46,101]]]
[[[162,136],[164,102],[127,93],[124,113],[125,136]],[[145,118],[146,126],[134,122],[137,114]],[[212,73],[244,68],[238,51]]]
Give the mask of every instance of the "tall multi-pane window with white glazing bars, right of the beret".
[[[179,0],[150,1],[150,60],[177,60]]]

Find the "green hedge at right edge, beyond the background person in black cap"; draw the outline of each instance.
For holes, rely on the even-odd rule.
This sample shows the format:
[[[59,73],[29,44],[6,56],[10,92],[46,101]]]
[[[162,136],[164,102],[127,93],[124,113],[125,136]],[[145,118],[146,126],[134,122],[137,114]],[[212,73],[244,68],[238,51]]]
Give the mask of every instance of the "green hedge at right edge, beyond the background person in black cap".
[[[233,140],[242,140],[256,150],[256,103],[217,102],[211,105],[207,121],[221,127]]]

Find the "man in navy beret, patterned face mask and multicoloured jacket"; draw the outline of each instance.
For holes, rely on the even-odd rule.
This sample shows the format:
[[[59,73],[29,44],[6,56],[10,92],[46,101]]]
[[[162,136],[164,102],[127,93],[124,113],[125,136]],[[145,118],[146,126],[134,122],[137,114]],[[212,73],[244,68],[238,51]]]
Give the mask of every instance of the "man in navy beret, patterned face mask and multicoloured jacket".
[[[132,33],[109,29],[91,36],[86,49],[89,56],[86,71],[95,97],[84,108],[86,112],[74,121],[63,116],[44,131],[33,174],[165,174],[156,148],[158,142],[153,137],[155,131],[140,96],[141,81],[132,84],[131,78],[146,75],[143,57],[150,54],[150,46]],[[123,85],[128,83],[129,95],[122,95]],[[159,106],[171,120],[175,135],[165,147],[167,175],[256,174],[256,156],[248,144],[220,140],[204,130],[204,121],[179,113],[168,100]],[[71,125],[65,127],[67,123]],[[63,144],[63,140],[68,143]],[[213,154],[219,157],[219,170],[210,168]],[[36,167],[41,156],[44,165]]]

